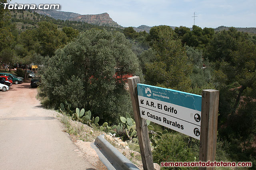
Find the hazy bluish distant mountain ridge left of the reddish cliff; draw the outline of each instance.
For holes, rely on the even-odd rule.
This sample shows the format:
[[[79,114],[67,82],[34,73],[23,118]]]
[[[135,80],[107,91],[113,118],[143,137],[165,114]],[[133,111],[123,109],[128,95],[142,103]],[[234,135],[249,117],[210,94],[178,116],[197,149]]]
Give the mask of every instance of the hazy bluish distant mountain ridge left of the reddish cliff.
[[[56,11],[56,10],[34,10],[34,12],[52,17],[55,20],[69,20],[71,18],[81,15],[74,12],[64,12],[64,11]]]

